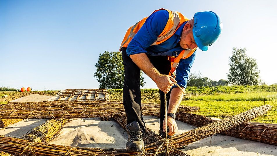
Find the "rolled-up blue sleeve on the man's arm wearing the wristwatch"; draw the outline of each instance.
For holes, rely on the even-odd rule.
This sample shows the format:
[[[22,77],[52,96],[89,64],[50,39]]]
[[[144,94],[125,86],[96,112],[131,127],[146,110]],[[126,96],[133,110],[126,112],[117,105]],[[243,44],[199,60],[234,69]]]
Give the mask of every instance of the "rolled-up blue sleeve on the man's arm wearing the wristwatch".
[[[196,51],[187,59],[181,59],[176,68],[176,81],[177,84],[183,88],[187,88],[187,79],[189,78],[190,68],[196,57]],[[174,85],[172,88],[177,87]]]

